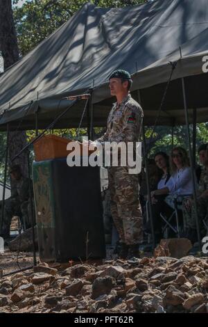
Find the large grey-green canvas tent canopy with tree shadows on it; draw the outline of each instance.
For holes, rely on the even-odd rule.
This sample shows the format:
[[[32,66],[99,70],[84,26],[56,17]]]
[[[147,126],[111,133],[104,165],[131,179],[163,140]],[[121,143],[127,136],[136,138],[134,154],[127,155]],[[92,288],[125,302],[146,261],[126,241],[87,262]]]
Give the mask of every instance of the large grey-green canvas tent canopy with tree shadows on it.
[[[189,114],[207,121],[207,0],[155,0],[127,8],[96,8],[86,3],[68,22],[12,65],[0,77],[0,129],[44,128],[69,106],[62,99],[94,86],[94,126],[105,126],[114,99],[108,77],[121,68],[132,74],[132,96],[141,93],[144,122],[153,125],[177,61],[158,124],[184,122],[180,77],[185,77]],[[182,58],[180,54],[180,47]],[[85,102],[71,108],[55,127],[77,127]],[[83,126],[87,126],[89,115]]]

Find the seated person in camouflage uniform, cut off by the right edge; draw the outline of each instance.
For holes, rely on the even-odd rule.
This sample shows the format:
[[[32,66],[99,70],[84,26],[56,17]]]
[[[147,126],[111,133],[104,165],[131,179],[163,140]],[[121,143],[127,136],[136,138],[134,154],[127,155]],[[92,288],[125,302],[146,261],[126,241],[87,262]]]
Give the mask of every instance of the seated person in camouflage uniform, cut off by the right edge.
[[[200,145],[198,148],[198,154],[203,166],[198,184],[197,209],[200,230],[202,234],[205,234],[205,224],[207,225],[206,220],[208,214],[208,153],[206,144]],[[193,198],[184,199],[182,209],[185,228],[187,229],[185,236],[194,243],[197,241],[197,233]],[[205,221],[205,224],[203,221]]]

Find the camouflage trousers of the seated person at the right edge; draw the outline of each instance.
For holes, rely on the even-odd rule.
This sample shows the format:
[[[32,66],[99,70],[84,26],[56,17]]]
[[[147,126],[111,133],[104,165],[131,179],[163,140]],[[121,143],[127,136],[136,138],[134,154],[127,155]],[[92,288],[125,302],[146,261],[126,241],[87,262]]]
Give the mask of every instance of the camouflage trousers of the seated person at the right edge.
[[[185,228],[196,229],[196,212],[192,202],[192,205],[188,205],[189,201],[184,199],[182,202],[182,212],[184,217]],[[207,198],[198,198],[197,199],[197,213],[200,230],[204,229],[203,220],[207,220],[208,214],[208,199]]]

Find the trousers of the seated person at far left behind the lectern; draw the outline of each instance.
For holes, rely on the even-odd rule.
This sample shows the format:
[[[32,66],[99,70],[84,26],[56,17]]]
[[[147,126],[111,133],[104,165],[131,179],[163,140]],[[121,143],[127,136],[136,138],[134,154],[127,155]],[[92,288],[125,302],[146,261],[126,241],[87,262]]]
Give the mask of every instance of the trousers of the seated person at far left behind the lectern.
[[[10,234],[10,224],[13,216],[19,216],[21,218],[21,221],[24,221],[26,228],[31,227],[30,208],[31,206],[28,201],[21,203],[16,198],[6,199],[4,204],[1,234]]]

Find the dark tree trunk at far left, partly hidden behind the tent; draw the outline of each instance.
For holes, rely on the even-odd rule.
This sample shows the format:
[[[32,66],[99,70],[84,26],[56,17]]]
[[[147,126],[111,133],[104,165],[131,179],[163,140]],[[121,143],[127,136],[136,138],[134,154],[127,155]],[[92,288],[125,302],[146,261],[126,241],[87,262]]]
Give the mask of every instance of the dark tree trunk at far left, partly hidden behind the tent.
[[[0,0],[0,50],[3,54],[5,69],[13,65],[19,58],[11,0]],[[8,144],[10,165],[11,159],[24,145],[26,145],[25,131],[10,131]],[[24,152],[12,164],[18,163],[21,166],[23,175],[28,176],[26,156],[27,154]]]

